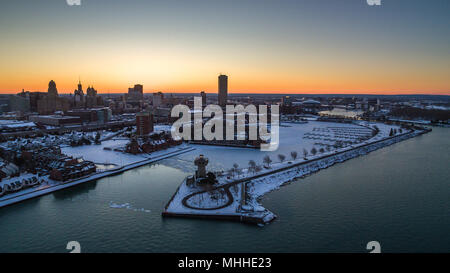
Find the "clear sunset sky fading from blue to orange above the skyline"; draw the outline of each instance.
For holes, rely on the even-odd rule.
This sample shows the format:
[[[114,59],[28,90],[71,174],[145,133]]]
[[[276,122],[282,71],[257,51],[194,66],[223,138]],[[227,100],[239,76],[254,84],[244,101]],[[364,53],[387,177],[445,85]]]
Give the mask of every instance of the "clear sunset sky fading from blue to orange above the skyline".
[[[450,1],[0,0],[0,93],[450,95]]]

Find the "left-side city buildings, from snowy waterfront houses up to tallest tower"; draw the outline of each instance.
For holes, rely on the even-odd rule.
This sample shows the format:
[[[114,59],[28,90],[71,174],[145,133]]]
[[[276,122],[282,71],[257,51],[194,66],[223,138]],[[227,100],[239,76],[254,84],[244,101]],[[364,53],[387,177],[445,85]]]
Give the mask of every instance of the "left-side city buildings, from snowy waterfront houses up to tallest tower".
[[[225,75],[219,77],[223,106],[227,102],[227,80]],[[154,131],[154,124],[170,124],[171,108],[189,105],[193,100],[162,92],[149,98],[143,89],[143,85],[136,84],[125,94],[100,95],[93,86],[83,90],[79,81],[74,92],[67,95],[59,94],[52,80],[47,92],[22,90],[2,95],[0,195],[47,183],[46,179],[65,182],[96,173],[96,164],[67,156],[60,145],[100,144],[100,134],[105,131],[129,138],[126,145],[105,150],[148,154],[180,145],[182,141],[174,140],[170,132]],[[202,91],[200,96],[206,104],[206,93]],[[35,184],[28,183],[28,177]]]

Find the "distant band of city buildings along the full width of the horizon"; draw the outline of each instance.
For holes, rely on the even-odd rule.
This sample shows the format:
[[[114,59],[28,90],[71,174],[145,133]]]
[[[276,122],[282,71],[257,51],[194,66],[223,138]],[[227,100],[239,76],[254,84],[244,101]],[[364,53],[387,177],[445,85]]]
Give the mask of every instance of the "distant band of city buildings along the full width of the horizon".
[[[138,126],[140,134],[152,131],[153,123],[170,124],[174,121],[171,110],[175,105],[194,106],[194,97],[200,96],[202,105],[217,104],[222,108],[232,105],[279,105],[284,118],[303,115],[333,116],[333,109],[355,111],[358,118],[383,119],[395,107],[430,107],[415,105],[414,100],[402,97],[363,95],[280,95],[280,94],[228,94],[228,76],[218,76],[218,93],[204,91],[191,94],[144,93],[144,86],[136,84],[125,94],[99,94],[93,86],[86,92],[79,81],[70,94],[59,94],[54,81],[47,92],[24,91],[15,95],[0,95],[0,120],[28,120],[39,126],[91,126],[92,129],[111,126]],[[411,104],[412,103],[412,104]],[[431,104],[432,102],[430,102]],[[447,102],[448,105],[448,102]],[[431,106],[433,106],[431,104]],[[445,105],[444,105],[445,107]],[[447,110],[448,110],[448,106]],[[337,113],[339,116],[339,113]],[[445,116],[444,116],[445,119]],[[24,123],[29,126],[31,123]],[[5,125],[5,126],[2,126]],[[20,124],[0,124],[3,132],[23,131]],[[24,126],[26,127],[26,126]],[[32,126],[31,126],[32,127]]]

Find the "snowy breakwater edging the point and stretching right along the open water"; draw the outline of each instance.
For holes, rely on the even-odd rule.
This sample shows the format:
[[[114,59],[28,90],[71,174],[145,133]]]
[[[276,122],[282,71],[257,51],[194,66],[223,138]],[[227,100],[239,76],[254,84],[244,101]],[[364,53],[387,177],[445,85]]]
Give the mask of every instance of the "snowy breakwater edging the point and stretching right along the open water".
[[[431,131],[431,129],[424,130],[413,130],[409,132],[405,132],[402,134],[398,134],[395,136],[387,137],[381,140],[369,142],[369,143],[361,143],[353,146],[349,146],[347,148],[340,149],[339,151],[333,154],[326,154],[322,156],[318,156],[312,158],[310,160],[301,161],[298,163],[292,163],[287,166],[282,166],[280,168],[276,168],[270,171],[266,171],[264,173],[260,173],[258,175],[254,175],[251,177],[242,178],[239,180],[235,180],[233,182],[217,186],[214,190],[228,190],[230,184],[237,185],[244,183],[242,185],[247,185],[246,191],[246,200],[247,204],[246,210],[236,211],[236,213],[226,213],[221,212],[223,206],[218,209],[208,208],[210,213],[205,213],[205,208],[193,208],[192,206],[185,206],[187,199],[198,195],[203,194],[206,191],[200,190],[198,192],[189,193],[186,196],[183,196],[182,204],[185,208],[189,210],[173,210],[169,209],[170,204],[174,202],[174,197],[179,193],[179,189],[183,186],[183,183],[180,184],[177,191],[174,193],[170,201],[165,206],[164,211],[162,212],[163,217],[188,217],[188,218],[202,218],[202,219],[220,219],[220,220],[233,220],[240,221],[245,223],[252,224],[261,224],[267,223],[275,219],[275,214],[263,208],[260,204],[260,198],[273,190],[278,189],[280,186],[287,184],[295,178],[300,178],[311,173],[317,172],[320,169],[328,168],[336,163],[340,163],[346,161],[351,158],[358,157],[360,155],[365,155],[374,150],[392,145],[394,143],[403,141],[405,139],[415,137],[424,133]],[[230,198],[230,194],[228,194],[228,198]],[[233,200],[228,200],[228,204],[231,204]],[[178,201],[179,202],[179,201]],[[250,207],[250,209],[248,209]],[[252,210],[252,208],[257,208]],[[196,210],[198,213],[196,213]]]

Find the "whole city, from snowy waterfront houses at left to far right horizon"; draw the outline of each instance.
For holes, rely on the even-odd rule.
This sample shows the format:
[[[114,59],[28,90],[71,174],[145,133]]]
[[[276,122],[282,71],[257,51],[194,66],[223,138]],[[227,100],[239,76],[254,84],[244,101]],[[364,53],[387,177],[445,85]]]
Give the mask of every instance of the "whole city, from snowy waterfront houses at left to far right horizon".
[[[218,76],[217,94],[206,94],[204,91],[190,94],[149,94],[144,93],[144,86],[141,84],[130,87],[125,94],[99,94],[93,86],[89,86],[85,92],[79,81],[73,93],[67,95],[59,94],[56,83],[50,81],[47,92],[22,90],[15,95],[0,95],[0,182],[3,178],[15,177],[23,171],[46,174],[55,181],[77,179],[95,173],[94,163],[68,157],[58,145],[98,144],[97,142],[101,142],[100,134],[105,131],[108,134],[122,132],[122,136],[129,139],[126,145],[105,147],[105,150],[139,154],[180,145],[181,141],[172,138],[167,126],[161,132],[155,130],[155,124],[173,124],[179,117],[172,117],[172,109],[180,104],[192,109],[190,114],[194,116],[195,97],[201,97],[203,109],[211,104],[219,105],[222,109],[227,105],[278,105],[282,122],[301,123],[308,118],[339,122],[351,122],[352,119],[386,121],[390,113],[398,109],[400,112],[413,109],[419,113],[429,111],[431,114],[438,111],[439,122],[448,124],[450,112],[448,100],[436,102],[367,95],[228,94],[226,75]],[[227,114],[223,113],[224,116]],[[208,119],[203,117],[202,125]],[[245,119],[248,136],[252,124],[247,116]],[[270,120],[267,122],[270,123]],[[264,141],[266,140],[261,138],[236,138],[234,141],[224,138],[213,141],[194,139],[192,142],[259,148]],[[49,151],[49,147],[53,146],[56,150]],[[9,191],[20,189],[26,183],[18,182]],[[5,193],[5,189],[2,190]]]

